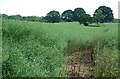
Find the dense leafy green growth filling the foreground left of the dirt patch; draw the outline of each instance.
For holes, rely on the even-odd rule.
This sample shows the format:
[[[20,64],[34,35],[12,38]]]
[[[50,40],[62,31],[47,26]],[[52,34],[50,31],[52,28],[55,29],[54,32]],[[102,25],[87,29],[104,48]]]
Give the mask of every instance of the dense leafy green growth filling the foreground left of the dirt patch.
[[[3,20],[3,77],[58,77],[65,58],[55,43],[37,23]]]

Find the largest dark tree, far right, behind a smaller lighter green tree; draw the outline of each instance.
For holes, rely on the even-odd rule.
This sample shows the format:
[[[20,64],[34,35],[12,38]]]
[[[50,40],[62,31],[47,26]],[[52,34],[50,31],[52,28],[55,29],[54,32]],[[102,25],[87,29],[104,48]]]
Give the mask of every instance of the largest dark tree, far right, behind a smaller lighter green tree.
[[[110,7],[100,6],[98,9],[96,9],[95,12],[97,12],[98,10],[101,10],[102,14],[105,16],[103,22],[111,22],[111,21],[113,21],[113,19],[114,19],[113,11],[111,10]]]

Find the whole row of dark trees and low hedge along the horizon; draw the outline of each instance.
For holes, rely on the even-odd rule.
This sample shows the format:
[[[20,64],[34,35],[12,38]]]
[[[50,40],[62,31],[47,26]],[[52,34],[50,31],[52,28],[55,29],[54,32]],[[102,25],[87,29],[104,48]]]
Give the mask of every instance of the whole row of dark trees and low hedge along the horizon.
[[[5,19],[15,19],[24,21],[37,21],[37,22],[47,22],[47,23],[57,23],[57,22],[74,22],[78,21],[80,24],[85,26],[90,23],[104,23],[112,22],[114,20],[113,11],[110,7],[100,6],[95,10],[93,17],[85,12],[83,8],[75,8],[72,10],[65,10],[61,15],[58,11],[50,11],[46,16],[20,16],[20,15],[6,15],[2,14]]]

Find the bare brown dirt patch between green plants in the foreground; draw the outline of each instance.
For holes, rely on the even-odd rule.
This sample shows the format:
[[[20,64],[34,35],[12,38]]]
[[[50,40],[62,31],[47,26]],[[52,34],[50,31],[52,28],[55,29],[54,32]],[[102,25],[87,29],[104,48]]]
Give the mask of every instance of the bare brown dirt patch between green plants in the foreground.
[[[79,49],[66,61],[65,70],[68,77],[93,77],[92,49]]]

